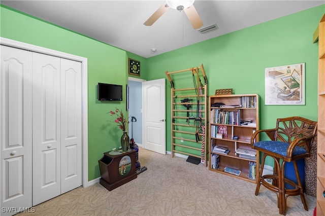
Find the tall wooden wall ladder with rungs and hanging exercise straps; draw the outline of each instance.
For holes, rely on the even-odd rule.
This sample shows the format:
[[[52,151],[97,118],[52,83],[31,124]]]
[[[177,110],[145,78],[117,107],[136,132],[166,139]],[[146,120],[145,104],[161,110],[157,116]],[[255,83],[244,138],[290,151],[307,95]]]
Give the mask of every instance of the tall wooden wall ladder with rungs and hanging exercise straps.
[[[166,71],[166,76],[171,83],[172,157],[178,153],[199,158],[207,166],[208,82],[203,64]],[[180,88],[175,87],[175,81],[180,84]]]

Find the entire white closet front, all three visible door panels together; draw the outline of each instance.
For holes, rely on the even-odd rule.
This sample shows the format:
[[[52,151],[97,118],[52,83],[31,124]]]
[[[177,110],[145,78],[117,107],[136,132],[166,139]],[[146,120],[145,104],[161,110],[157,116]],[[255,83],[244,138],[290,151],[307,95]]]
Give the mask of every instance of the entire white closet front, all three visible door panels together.
[[[1,46],[1,207],[82,185],[81,81],[81,62]]]

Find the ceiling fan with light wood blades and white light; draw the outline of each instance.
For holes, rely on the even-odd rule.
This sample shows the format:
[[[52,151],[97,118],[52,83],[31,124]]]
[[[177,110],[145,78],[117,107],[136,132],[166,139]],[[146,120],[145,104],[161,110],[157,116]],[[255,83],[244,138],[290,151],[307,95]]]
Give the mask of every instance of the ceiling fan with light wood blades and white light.
[[[167,0],[164,5],[161,5],[143,24],[146,26],[152,25],[161,15],[163,15],[169,8],[178,11],[184,11],[194,29],[203,26],[203,22],[194,8],[194,0]]]

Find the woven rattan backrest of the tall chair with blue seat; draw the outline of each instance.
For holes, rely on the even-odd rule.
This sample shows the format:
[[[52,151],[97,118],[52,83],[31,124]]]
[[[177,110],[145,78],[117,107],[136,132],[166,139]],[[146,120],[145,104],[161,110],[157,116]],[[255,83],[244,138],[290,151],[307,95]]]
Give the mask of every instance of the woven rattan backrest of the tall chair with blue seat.
[[[277,119],[275,140],[282,142],[292,142],[295,138],[313,136],[308,139],[310,144],[317,132],[317,122],[302,117],[288,117]]]

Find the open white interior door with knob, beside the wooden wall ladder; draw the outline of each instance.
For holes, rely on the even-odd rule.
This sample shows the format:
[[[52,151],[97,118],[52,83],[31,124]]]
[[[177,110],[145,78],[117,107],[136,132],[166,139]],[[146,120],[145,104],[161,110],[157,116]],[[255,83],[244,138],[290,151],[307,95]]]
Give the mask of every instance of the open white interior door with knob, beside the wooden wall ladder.
[[[166,154],[166,80],[152,80],[143,85],[143,147]]]

